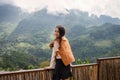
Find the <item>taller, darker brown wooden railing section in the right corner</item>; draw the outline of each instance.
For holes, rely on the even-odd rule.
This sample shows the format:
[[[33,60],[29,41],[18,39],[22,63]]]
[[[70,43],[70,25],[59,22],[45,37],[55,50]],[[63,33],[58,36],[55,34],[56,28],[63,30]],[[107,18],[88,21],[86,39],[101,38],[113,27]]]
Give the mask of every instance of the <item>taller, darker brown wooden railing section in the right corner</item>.
[[[99,58],[98,80],[120,80],[120,56]]]

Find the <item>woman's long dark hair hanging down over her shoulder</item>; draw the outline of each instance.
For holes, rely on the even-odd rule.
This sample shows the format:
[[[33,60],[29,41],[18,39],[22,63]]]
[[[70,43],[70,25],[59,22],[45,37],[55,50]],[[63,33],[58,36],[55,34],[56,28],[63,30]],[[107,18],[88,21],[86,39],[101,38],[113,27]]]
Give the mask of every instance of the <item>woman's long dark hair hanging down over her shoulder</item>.
[[[57,39],[59,41],[59,45],[61,46],[62,37],[65,35],[66,31],[62,25],[57,25],[56,28],[58,28],[58,30],[59,30],[59,37]]]

